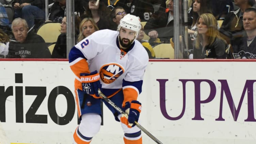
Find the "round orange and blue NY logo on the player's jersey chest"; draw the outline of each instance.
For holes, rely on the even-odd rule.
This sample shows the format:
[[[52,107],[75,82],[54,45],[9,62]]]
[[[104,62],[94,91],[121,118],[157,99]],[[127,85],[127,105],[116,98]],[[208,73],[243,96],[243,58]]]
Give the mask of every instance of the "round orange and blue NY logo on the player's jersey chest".
[[[123,73],[124,68],[115,63],[103,65],[99,70],[100,79],[106,84],[114,82]]]

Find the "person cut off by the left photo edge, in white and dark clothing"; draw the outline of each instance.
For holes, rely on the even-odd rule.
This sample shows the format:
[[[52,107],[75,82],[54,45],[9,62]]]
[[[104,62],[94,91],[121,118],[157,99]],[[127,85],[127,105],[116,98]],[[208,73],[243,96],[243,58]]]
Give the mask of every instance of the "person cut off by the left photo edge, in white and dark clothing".
[[[8,54],[9,43],[8,35],[0,29],[0,58],[5,58]]]

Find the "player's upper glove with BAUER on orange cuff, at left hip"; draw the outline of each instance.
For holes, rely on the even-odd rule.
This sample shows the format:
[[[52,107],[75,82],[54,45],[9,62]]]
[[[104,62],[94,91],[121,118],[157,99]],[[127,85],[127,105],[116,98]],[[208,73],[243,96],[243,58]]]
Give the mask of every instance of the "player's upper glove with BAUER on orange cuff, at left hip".
[[[98,89],[101,90],[101,83],[99,81],[100,76],[96,70],[90,74],[81,73],[80,79],[82,81],[82,88],[85,93],[93,96],[94,98],[100,98]]]

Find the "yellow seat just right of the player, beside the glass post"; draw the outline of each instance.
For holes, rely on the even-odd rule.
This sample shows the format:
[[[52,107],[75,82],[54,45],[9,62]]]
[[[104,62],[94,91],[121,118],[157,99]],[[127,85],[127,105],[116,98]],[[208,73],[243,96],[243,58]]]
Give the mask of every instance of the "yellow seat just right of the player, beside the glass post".
[[[174,48],[171,44],[160,44],[153,47],[156,58],[174,59]]]

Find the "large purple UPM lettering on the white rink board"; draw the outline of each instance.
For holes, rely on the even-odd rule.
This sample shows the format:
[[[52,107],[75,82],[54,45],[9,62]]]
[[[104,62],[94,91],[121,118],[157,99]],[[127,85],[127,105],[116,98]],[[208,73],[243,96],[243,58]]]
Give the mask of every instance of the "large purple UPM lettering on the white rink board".
[[[180,119],[186,109],[186,83],[187,82],[193,82],[194,83],[194,100],[195,100],[195,116],[192,118],[192,120],[204,120],[201,116],[201,105],[203,103],[209,103],[211,102],[216,95],[216,86],[213,81],[207,80],[207,79],[179,79],[179,81],[182,83],[182,96],[183,96],[183,105],[182,105],[182,112],[179,116],[172,117],[167,114],[166,112],[166,103],[165,103],[165,83],[168,81],[168,79],[157,79],[160,84],[160,108],[161,112],[164,115],[165,118],[170,120],[178,120]],[[228,106],[230,108],[230,113],[232,114],[234,121],[237,121],[242,101],[244,100],[245,94],[247,92],[247,112],[248,117],[244,120],[247,122],[256,122],[256,119],[254,118],[254,100],[253,100],[253,92],[255,89],[253,89],[253,84],[256,82],[256,80],[246,80],[244,89],[240,98],[240,101],[238,103],[238,106],[236,108],[234,104],[233,97],[231,95],[228,82],[227,80],[218,80],[221,83],[221,95],[220,95],[220,103],[219,103],[219,117],[216,118],[216,121],[225,121],[225,119],[222,117],[222,109],[223,109],[223,97],[226,96],[226,100],[228,102]],[[201,83],[206,82],[209,85],[209,96],[205,100],[201,100]],[[241,84],[239,84],[241,85]],[[241,85],[242,86],[242,85]],[[225,94],[225,95],[224,95]]]

